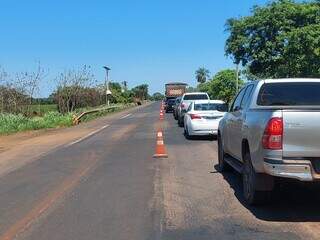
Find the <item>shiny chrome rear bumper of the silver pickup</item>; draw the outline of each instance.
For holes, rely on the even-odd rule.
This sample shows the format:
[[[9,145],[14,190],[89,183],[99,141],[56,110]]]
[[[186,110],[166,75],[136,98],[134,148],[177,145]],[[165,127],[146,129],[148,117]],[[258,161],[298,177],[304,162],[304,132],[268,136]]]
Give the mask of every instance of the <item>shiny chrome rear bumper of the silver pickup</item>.
[[[293,178],[300,181],[320,180],[309,160],[264,159],[264,169],[267,174],[277,177]]]

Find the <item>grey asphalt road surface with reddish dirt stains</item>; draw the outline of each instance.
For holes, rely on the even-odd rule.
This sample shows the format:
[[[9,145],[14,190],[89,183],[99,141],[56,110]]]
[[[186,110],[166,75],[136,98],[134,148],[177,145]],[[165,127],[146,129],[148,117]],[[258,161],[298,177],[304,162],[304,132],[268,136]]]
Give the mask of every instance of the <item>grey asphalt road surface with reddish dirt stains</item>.
[[[249,207],[241,177],[216,171],[215,140],[186,140],[159,103],[0,178],[0,240],[318,239],[318,186],[284,183]]]

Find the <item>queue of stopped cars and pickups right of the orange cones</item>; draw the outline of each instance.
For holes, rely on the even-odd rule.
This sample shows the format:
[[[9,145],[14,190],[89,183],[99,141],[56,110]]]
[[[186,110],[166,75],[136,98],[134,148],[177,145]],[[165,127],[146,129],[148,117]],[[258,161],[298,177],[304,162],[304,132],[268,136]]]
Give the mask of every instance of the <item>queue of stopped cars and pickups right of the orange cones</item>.
[[[272,200],[285,179],[320,180],[320,79],[267,79],[247,83],[232,104],[207,93],[167,97],[186,138],[217,139],[218,169],[242,175],[250,205]]]

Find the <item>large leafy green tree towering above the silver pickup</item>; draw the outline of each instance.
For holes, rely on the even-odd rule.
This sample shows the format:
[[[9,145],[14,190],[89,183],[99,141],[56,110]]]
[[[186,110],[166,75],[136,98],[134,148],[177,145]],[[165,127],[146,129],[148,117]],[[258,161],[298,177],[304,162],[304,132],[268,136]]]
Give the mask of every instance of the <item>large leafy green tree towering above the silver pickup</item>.
[[[254,78],[320,77],[320,2],[277,0],[229,19],[226,54]]]

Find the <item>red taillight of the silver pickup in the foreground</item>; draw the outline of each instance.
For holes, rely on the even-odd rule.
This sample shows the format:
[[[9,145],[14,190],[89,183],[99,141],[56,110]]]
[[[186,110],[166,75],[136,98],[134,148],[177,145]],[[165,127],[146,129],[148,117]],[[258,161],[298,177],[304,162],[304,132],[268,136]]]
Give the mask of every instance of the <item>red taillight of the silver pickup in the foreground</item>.
[[[283,145],[283,119],[271,118],[262,138],[265,149],[281,150]]]

